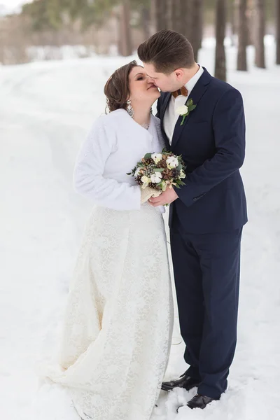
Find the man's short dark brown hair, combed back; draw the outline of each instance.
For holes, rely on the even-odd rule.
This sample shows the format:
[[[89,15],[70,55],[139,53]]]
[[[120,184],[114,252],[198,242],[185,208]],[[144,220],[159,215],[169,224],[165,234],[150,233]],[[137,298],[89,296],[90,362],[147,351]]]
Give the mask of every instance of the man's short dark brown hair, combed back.
[[[153,64],[158,73],[170,74],[195,65],[193,47],[188,39],[175,31],[163,29],[141,43],[138,55],[142,62]]]

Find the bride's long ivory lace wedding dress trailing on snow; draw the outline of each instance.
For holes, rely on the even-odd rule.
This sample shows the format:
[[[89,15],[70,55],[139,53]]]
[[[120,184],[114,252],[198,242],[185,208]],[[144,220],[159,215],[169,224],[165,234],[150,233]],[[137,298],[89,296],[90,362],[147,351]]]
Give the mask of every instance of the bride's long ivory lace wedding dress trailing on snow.
[[[158,139],[152,134],[145,134],[149,141]],[[160,144],[141,147],[161,151]],[[161,212],[149,204],[123,211],[94,207],[69,288],[60,367],[50,367],[48,377],[67,388],[83,420],[149,420],[172,328]]]

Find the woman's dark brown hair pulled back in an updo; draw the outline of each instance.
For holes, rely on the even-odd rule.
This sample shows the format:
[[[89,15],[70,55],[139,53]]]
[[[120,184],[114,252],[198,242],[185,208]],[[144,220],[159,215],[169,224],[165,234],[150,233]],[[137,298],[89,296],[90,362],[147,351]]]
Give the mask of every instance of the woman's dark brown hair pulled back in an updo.
[[[125,64],[125,66],[114,71],[109,80],[107,80],[104,93],[107,97],[107,109],[109,109],[109,112],[116,111],[116,109],[127,109],[127,99],[130,97],[130,71],[137,66],[138,64],[135,60]]]

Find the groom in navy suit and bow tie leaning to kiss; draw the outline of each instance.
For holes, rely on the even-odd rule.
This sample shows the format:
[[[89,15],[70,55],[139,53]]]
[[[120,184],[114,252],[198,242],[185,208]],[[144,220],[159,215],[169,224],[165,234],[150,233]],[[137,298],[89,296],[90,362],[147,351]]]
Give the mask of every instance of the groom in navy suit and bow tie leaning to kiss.
[[[239,173],[245,154],[243,101],[238,90],[195,62],[181,34],[160,31],[139,46],[138,55],[162,91],[158,117],[166,146],[187,165],[185,186],[150,200],[155,207],[172,203],[172,260],[190,365],[162,389],[198,386],[188,406],[204,408],[225,392],[237,342],[240,241],[247,222]]]

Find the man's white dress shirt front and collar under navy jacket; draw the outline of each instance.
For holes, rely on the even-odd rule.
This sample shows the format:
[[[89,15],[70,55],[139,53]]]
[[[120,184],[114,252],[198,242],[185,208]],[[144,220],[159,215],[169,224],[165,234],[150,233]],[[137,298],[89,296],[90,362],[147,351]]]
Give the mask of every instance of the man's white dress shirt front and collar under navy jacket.
[[[174,98],[173,95],[171,96],[167,110],[165,111],[165,116],[163,118],[163,127],[165,128],[165,134],[169,139],[169,144],[172,143],[174,128],[179,118],[179,115],[176,114],[175,111],[177,108],[179,108],[179,106],[186,104],[188,98],[190,97],[190,92],[192,92],[203,72],[204,69],[202,66],[200,66],[200,69],[197,71],[197,73],[195,73],[195,76],[193,76],[190,80],[188,80],[188,83],[186,83],[185,87],[188,90],[188,97],[185,97],[182,94],[179,94],[179,96],[176,98]]]

